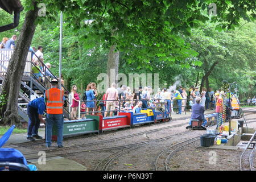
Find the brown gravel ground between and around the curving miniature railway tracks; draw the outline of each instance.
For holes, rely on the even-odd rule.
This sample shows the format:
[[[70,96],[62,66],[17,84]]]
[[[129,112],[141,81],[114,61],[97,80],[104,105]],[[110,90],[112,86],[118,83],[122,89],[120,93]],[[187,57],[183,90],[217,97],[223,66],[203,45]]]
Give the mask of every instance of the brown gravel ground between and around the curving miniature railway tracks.
[[[188,115],[189,117],[189,115]],[[256,114],[250,114],[247,118],[256,118]],[[182,142],[184,140],[200,136],[206,131],[204,130],[186,130],[185,126],[172,127],[168,129],[162,129],[147,135],[141,134],[135,137],[129,137],[132,134],[150,131],[166,126],[177,125],[179,123],[188,123],[188,119],[175,120],[172,122],[159,123],[156,125],[143,125],[136,126],[134,129],[119,129],[115,131],[108,131],[103,134],[86,135],[83,137],[69,138],[64,140],[65,147],[75,146],[77,144],[96,143],[102,140],[113,139],[110,142],[101,144],[94,144],[91,146],[74,147],[65,150],[58,150],[56,154],[62,154],[64,152],[77,152],[81,150],[88,150],[87,152],[78,152],[72,155],[65,155],[65,158],[75,160],[76,162],[84,165],[88,170],[94,170],[98,163],[115,152],[121,151],[122,149],[111,149],[104,151],[90,151],[99,148],[117,147],[124,146],[127,144],[134,144],[138,142],[147,142],[146,144],[139,146],[131,151],[126,151],[122,155],[118,155],[112,159],[107,170],[131,170],[131,171],[150,171],[154,170],[154,164],[156,157],[165,148],[171,147],[174,144]],[[248,123],[248,127],[256,129],[256,122]],[[183,133],[180,134],[179,133]],[[176,134],[176,135],[175,135]],[[170,135],[173,135],[170,137]],[[117,139],[118,137],[127,136],[125,139]],[[158,138],[168,137],[163,140],[155,140]],[[30,146],[32,149],[45,150],[42,145]],[[131,147],[128,147],[131,148]],[[238,150],[219,150],[210,149],[207,147],[200,147],[200,140],[189,144],[176,152],[175,155],[168,159],[168,168],[172,171],[189,170],[189,171],[204,171],[204,170],[216,170],[225,171],[232,170],[238,171],[239,159],[242,153],[242,149]],[[213,160],[212,156],[216,155],[216,161]],[[161,156],[159,160],[164,160],[164,156]],[[101,168],[98,168],[101,170]],[[163,170],[163,164],[159,165],[159,170]]]

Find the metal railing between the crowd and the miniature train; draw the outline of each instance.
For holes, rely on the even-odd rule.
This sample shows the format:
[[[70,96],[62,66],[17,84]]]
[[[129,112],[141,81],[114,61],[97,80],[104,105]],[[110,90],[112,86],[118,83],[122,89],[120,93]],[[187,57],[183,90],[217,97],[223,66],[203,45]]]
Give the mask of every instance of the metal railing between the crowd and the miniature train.
[[[157,102],[159,100],[159,102]],[[115,109],[115,110],[106,110],[103,109],[102,110],[102,107],[101,107],[101,110],[98,110],[97,109],[97,106],[100,104],[100,102],[107,102],[107,101],[115,101],[115,102],[118,102],[118,104],[116,104],[117,108],[118,109]],[[132,109],[125,109],[125,107],[123,107],[122,109],[122,104],[123,102],[125,102],[126,100],[87,100],[87,101],[79,101],[79,106],[77,107],[77,113],[78,113],[78,118],[81,119],[81,114],[97,114],[97,113],[105,113],[105,112],[119,112],[119,111],[127,111],[127,110],[132,110]],[[135,102],[137,103],[138,101],[142,101],[142,100],[130,100],[131,102]],[[163,99],[152,99],[152,100],[146,100],[147,102],[149,101],[153,101],[154,103],[154,109],[159,109],[159,108],[162,108],[163,111],[168,111],[167,109],[167,103],[166,103],[166,100],[163,100]],[[163,102],[162,102],[163,101]],[[173,101],[175,100],[170,100],[171,101],[171,104],[170,104],[170,113],[172,113],[174,111],[174,109],[178,109],[179,107],[184,107],[184,112],[186,114],[186,110],[187,110],[187,106],[186,104],[185,105],[181,105],[181,106],[174,106],[172,104]],[[185,103],[187,102],[186,99],[182,99],[181,101],[185,101]],[[93,108],[94,110],[93,111],[85,111],[85,112],[81,112],[81,102],[94,102],[95,103],[95,107]],[[69,103],[72,103],[72,96],[71,94],[69,95]],[[97,104],[98,103],[98,104]],[[106,103],[104,103],[105,105]],[[161,106],[157,106],[157,105],[161,105]],[[133,105],[135,106],[135,105]],[[87,107],[86,107],[87,108]],[[150,105],[148,105],[148,107],[146,108],[142,108],[142,109],[152,109],[152,107],[150,107]],[[71,105],[69,105],[69,117],[71,117]],[[104,115],[103,115],[104,116]],[[76,116],[75,116],[76,117]]]

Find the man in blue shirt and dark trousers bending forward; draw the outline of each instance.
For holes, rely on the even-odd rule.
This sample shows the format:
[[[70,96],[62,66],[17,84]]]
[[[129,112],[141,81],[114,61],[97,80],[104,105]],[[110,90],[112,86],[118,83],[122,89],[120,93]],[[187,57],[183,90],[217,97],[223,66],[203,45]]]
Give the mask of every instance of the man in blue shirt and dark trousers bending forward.
[[[27,114],[28,114],[28,128],[27,128],[27,139],[32,142],[36,139],[42,139],[38,135],[38,129],[40,122],[45,123],[43,119],[44,111],[46,110],[46,104],[44,103],[44,98],[39,97],[30,101],[27,105]]]

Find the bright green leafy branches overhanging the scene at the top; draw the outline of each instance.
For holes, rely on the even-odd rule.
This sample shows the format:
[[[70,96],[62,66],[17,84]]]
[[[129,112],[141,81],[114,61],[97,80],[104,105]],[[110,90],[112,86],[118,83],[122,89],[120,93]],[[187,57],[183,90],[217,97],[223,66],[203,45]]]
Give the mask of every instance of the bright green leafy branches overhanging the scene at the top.
[[[115,44],[139,64],[158,55],[162,60],[170,56],[175,60],[194,56],[180,35],[190,35],[191,28],[198,27],[200,22],[210,19],[218,23],[220,30],[238,26],[240,17],[255,19],[255,2],[247,0],[214,2],[216,16],[208,15],[210,0],[42,0],[40,3],[45,3],[47,9],[47,16],[39,18],[41,22],[46,19],[54,22],[53,17],[63,11],[65,22],[73,30],[86,28],[85,37],[96,36],[105,47]]]

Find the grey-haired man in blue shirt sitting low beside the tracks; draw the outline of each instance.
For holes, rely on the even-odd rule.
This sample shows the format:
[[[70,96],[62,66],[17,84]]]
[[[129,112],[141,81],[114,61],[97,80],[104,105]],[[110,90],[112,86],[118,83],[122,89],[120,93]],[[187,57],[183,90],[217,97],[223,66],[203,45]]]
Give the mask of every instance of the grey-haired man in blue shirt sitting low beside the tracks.
[[[200,105],[200,102],[201,98],[196,97],[196,104],[192,105],[192,114],[189,121],[189,126],[187,126],[186,128],[189,128],[192,125],[192,119],[199,119],[200,121],[203,121],[201,127],[206,130],[205,125],[207,124],[207,120],[204,118],[204,106]]]

